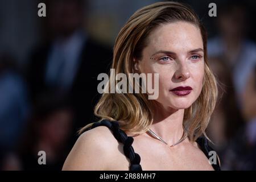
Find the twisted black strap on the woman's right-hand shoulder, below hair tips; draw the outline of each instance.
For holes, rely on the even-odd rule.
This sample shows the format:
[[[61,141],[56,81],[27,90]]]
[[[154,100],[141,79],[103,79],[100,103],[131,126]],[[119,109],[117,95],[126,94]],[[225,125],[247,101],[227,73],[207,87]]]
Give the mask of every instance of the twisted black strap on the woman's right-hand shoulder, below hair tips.
[[[204,152],[204,154],[207,156],[207,158],[210,158],[209,152],[214,151],[212,147],[209,146],[208,139],[205,137],[199,137],[197,138],[196,142],[199,144],[200,149]],[[216,164],[212,164],[212,167],[215,171],[220,171],[220,164],[218,163],[218,159],[216,160]]]

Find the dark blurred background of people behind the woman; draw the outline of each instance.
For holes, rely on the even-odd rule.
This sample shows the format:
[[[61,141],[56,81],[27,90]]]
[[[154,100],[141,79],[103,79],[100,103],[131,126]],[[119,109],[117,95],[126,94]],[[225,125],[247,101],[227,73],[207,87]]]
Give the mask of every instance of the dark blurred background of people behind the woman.
[[[46,17],[38,4],[46,3]],[[0,0],[0,169],[60,170],[97,121],[97,76],[108,73],[127,19],[154,0]],[[256,169],[256,1],[178,1],[208,30],[219,98],[207,134],[224,170]],[[217,16],[210,17],[209,3]],[[38,164],[45,151],[47,164]]]

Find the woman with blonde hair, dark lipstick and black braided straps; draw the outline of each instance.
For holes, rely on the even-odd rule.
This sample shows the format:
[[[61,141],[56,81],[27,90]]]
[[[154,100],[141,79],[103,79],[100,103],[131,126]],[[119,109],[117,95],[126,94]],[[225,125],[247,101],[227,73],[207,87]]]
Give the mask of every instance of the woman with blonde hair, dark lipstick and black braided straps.
[[[159,73],[159,96],[104,93],[94,111],[101,121],[81,130],[63,169],[220,169],[218,160],[209,164],[212,148],[202,137],[217,97],[206,45],[199,19],[181,3],[135,12],[119,32],[112,68],[126,76]]]

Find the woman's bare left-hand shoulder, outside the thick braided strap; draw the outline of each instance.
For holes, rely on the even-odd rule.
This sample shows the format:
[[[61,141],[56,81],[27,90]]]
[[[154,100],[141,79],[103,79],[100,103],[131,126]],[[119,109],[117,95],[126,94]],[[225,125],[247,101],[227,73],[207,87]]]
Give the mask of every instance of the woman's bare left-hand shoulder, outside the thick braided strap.
[[[118,141],[108,127],[90,129],[77,139],[63,170],[105,170],[116,152]]]

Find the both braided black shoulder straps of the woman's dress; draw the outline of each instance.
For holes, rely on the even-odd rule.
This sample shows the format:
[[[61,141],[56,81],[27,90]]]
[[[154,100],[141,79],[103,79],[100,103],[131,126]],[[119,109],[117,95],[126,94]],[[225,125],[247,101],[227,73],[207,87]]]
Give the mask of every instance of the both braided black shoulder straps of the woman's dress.
[[[92,126],[88,127],[85,131],[88,131],[90,129],[93,129],[97,126],[106,126],[110,130],[113,131],[113,135],[115,139],[118,140],[118,142],[123,143],[123,151],[125,153],[125,156],[130,159],[130,171],[142,171],[141,164],[141,157],[139,154],[134,152],[133,146],[133,137],[128,137],[126,133],[119,128],[119,123],[117,121],[109,121],[109,120],[102,120],[101,122],[95,122]],[[208,155],[210,151],[213,151],[213,148],[209,146],[208,140],[205,137],[200,137],[196,140],[196,142],[199,144],[200,149],[204,152],[204,154],[209,159],[210,156]],[[220,164],[212,164],[212,167],[216,171],[220,171]]]

